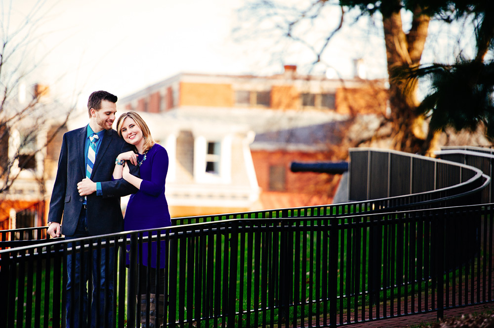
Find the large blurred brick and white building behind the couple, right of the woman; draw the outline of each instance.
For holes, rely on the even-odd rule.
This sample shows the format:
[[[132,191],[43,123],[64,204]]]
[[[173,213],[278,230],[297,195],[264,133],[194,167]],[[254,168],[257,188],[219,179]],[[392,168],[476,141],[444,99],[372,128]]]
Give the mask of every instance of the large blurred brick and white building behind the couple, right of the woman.
[[[166,147],[172,216],[331,203],[339,176],[292,173],[334,159],[352,115],[386,113],[384,81],[180,73],[118,102]]]

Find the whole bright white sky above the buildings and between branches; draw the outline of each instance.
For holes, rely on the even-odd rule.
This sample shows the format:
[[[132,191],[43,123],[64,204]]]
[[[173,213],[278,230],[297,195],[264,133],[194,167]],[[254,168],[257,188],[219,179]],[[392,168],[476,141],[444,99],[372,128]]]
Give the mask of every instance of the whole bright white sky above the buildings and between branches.
[[[31,83],[48,84],[66,103],[77,98],[80,107],[92,91],[123,98],[181,72],[266,75],[281,73],[284,64],[300,67],[312,60],[307,48],[269,37],[235,41],[232,30],[243,24],[238,9],[246,1],[0,0],[1,33],[12,34],[30,17],[33,28],[24,29],[30,50],[22,58],[37,64]],[[337,25],[339,9],[334,10],[324,13],[324,27]],[[246,21],[256,24],[255,19]],[[349,77],[353,60],[362,57],[369,77],[386,76],[382,28],[369,20],[359,24],[338,33],[325,53],[322,72],[314,73],[334,68]],[[304,27],[300,29],[303,35]],[[317,44],[327,31],[305,36]]]

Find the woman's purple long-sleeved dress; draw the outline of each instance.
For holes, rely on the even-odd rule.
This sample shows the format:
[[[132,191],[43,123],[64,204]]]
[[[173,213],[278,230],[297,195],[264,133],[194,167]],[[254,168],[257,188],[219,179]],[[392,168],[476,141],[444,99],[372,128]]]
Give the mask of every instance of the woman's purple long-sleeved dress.
[[[139,154],[137,161],[142,161],[144,155]],[[139,166],[141,187],[137,193],[130,195],[125,210],[124,230],[142,230],[161,228],[171,225],[168,203],[165,198],[165,180],[168,172],[168,153],[163,146],[155,144],[146,153],[146,159]],[[164,232],[164,231],[163,231]],[[145,234],[144,236],[147,236]],[[127,246],[127,249],[129,246]],[[165,267],[166,244],[160,242],[160,267]],[[127,253],[127,265],[129,258]],[[148,246],[142,247],[142,261],[148,265]],[[156,242],[152,243],[151,266],[156,267]]]

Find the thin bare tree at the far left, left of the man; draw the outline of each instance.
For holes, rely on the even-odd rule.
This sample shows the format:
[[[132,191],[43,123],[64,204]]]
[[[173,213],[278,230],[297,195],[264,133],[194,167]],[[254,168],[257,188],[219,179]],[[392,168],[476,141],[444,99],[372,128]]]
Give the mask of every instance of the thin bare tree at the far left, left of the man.
[[[50,55],[50,50],[39,53],[37,31],[51,9],[40,0],[18,17],[12,2],[0,1],[0,202],[26,170],[44,194],[44,170],[37,170],[37,163],[75,109],[75,101],[61,104],[37,77]]]

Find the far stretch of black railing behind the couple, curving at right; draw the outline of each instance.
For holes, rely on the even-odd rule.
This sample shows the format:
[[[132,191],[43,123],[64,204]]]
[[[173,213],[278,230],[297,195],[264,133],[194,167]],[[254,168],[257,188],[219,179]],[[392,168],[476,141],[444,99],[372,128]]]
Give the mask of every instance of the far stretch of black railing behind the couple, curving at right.
[[[469,147],[473,151],[475,147]],[[491,149],[487,149],[489,151]],[[472,152],[476,158],[494,158],[494,150],[491,154]],[[448,150],[441,154],[459,154],[463,158],[462,150]],[[472,156],[473,157],[473,156]],[[341,204],[328,204],[306,206],[287,209],[272,209],[261,211],[249,211],[239,213],[227,213],[218,215],[193,216],[172,218],[172,225],[211,222],[224,219],[272,219],[272,218],[311,218],[320,216],[339,216],[352,213],[373,213],[378,211],[390,211],[412,208],[443,207],[458,205],[458,201],[465,204],[486,203],[485,197],[478,199],[478,192],[484,190],[490,184],[492,168],[482,170],[484,165],[476,161],[460,161],[456,157],[448,157],[448,161],[424,157],[394,150],[374,148],[350,149],[350,194],[353,201]],[[417,165],[417,162],[419,164]],[[452,163],[454,162],[454,163]],[[393,167],[395,163],[396,168]],[[478,164],[478,165],[476,165]],[[374,165],[377,169],[374,169]],[[421,173],[412,179],[413,170]],[[364,168],[364,170],[362,170]],[[383,168],[385,168],[383,170]],[[418,169],[417,169],[418,168]],[[392,175],[392,173],[394,175]],[[396,176],[399,180],[398,188],[392,190],[393,181],[390,178]],[[429,183],[403,183],[407,181],[429,181]],[[432,181],[432,183],[430,183]],[[378,182],[378,183],[377,183]],[[384,182],[384,183],[383,183]],[[382,188],[382,185],[386,188]],[[376,187],[376,185],[378,187]],[[379,187],[381,186],[381,187]],[[494,188],[494,184],[490,184]],[[408,192],[407,192],[408,191]],[[482,191],[484,194],[486,191]],[[359,199],[360,198],[360,199]],[[365,199],[365,200],[363,200]],[[23,228],[14,230],[0,230],[0,250],[3,247],[22,246],[33,244],[35,239],[47,239],[44,233],[45,227]],[[12,234],[14,233],[15,234]],[[39,237],[38,237],[39,236]],[[3,243],[12,241],[13,243]],[[15,241],[15,242],[14,242]],[[8,246],[5,246],[8,245]]]

